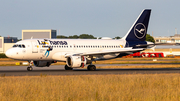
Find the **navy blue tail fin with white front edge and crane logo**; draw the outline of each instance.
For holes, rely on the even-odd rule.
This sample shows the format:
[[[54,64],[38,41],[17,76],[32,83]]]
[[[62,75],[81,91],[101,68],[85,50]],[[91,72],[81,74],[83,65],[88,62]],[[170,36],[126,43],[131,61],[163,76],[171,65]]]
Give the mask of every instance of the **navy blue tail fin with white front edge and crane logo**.
[[[123,37],[126,41],[145,41],[151,9],[145,9],[134,22],[128,33]]]

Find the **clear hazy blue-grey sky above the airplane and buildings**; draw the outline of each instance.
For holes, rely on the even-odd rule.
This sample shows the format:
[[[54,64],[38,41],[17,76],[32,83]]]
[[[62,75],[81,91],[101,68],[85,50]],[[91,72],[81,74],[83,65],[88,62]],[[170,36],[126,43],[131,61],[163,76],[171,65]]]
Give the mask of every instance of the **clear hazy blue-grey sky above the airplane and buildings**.
[[[152,9],[147,33],[180,32],[180,0],[0,0],[0,36],[55,29],[65,36],[123,37],[146,8]]]

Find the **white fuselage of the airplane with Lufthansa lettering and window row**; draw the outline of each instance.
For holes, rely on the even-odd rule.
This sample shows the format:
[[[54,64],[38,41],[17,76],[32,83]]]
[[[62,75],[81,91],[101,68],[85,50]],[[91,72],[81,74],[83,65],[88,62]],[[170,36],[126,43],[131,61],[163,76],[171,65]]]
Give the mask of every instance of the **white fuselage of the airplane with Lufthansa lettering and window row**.
[[[6,55],[19,60],[55,60],[66,61],[65,55],[93,51],[116,50],[124,48],[126,41],[105,39],[28,39],[17,42]],[[47,52],[48,47],[52,50]],[[47,52],[47,53],[46,53]],[[46,53],[46,54],[45,54]],[[118,55],[118,54],[117,54]]]

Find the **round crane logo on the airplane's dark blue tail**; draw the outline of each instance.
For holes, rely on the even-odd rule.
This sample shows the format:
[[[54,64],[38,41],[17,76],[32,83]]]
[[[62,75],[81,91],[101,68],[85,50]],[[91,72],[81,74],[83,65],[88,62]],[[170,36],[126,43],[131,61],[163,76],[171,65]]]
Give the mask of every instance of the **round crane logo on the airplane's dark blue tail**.
[[[134,35],[138,39],[144,38],[144,36],[146,35],[146,27],[145,27],[145,25],[142,24],[142,23],[136,24],[135,27],[134,27]]]

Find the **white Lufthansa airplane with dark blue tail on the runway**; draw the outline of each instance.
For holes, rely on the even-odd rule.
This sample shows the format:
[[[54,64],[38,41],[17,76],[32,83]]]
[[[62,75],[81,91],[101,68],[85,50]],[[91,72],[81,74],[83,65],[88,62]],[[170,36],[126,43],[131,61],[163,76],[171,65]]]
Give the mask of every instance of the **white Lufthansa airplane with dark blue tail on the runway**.
[[[93,61],[108,60],[143,51],[155,44],[145,41],[151,9],[144,9],[122,39],[26,39],[6,51],[6,56],[36,67],[66,62],[65,70],[83,68],[94,71]]]

